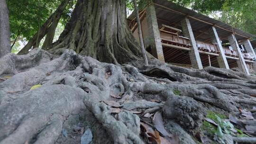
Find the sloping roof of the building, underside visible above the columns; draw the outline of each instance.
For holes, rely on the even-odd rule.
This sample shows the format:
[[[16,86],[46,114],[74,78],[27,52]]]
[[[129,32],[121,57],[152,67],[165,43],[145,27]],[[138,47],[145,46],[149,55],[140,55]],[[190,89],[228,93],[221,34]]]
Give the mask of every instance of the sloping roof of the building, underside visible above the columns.
[[[246,38],[256,37],[243,30],[231,27],[230,25],[224,22],[221,22],[213,18],[209,18],[191,9],[179,6],[173,2],[167,0],[153,0],[153,2],[155,3],[155,12],[159,26],[162,24],[172,24],[172,26],[174,25],[174,27],[181,29],[179,21],[182,18],[189,16],[194,35],[195,37],[199,35],[197,38],[201,40],[210,39],[210,36],[207,35],[207,31],[205,31],[206,34],[201,34],[205,29],[207,29],[207,27],[211,26],[210,24],[216,26],[216,30],[218,32],[219,37],[224,38],[223,41],[225,41],[225,38],[227,38],[228,35],[232,34],[232,31],[236,34],[235,36],[238,41]],[[134,18],[135,14],[132,13],[128,17],[128,20],[132,20]],[[202,22],[200,20],[205,22]],[[176,24],[174,24],[174,22],[176,22]]]

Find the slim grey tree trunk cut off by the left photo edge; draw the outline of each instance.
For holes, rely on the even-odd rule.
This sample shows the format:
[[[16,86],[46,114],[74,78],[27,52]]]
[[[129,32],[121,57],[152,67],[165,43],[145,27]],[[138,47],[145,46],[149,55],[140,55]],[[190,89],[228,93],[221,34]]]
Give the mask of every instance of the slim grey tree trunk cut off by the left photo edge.
[[[0,0],[0,57],[10,53],[9,10],[5,0]]]

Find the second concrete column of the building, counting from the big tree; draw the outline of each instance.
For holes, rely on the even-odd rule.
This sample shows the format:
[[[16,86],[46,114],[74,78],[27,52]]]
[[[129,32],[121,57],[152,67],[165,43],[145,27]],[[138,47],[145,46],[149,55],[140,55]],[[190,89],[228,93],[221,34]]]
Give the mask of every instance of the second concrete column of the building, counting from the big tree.
[[[192,27],[190,25],[189,19],[184,18],[181,20],[182,24],[182,32],[185,37],[188,37],[190,39],[190,45],[192,45],[191,51],[189,52],[190,61],[192,64],[192,68],[194,69],[202,69],[202,63],[200,59],[200,55],[198,52],[198,48],[196,45],[196,41],[194,38],[194,34],[192,31]]]

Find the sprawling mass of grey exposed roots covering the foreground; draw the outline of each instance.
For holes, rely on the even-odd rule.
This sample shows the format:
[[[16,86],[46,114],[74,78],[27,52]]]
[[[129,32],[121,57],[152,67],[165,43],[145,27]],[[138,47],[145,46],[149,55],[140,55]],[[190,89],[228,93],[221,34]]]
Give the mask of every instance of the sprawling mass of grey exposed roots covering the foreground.
[[[64,121],[81,109],[92,112],[115,144],[143,144],[140,119],[129,110],[170,108],[174,113],[165,110],[165,122],[175,120],[191,134],[201,125],[206,103],[229,113],[256,105],[250,96],[256,94],[256,78],[238,72],[184,69],[155,60],[149,66],[115,65],[72,50],[51,53],[34,49],[27,55],[8,54],[0,59],[0,77],[14,74],[0,83],[0,144],[54,144]],[[42,86],[30,90],[36,84]],[[123,97],[114,99],[113,93]],[[166,102],[146,101],[149,97]],[[119,101],[126,110],[113,115],[104,100]],[[188,135],[182,128],[179,131]],[[181,142],[186,141],[190,140]]]

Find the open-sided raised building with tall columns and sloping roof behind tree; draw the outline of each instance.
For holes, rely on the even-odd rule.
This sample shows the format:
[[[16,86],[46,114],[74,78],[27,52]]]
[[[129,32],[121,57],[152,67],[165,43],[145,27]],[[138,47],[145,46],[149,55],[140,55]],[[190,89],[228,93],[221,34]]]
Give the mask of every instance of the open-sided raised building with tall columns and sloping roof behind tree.
[[[161,61],[194,69],[256,70],[252,34],[167,0],[153,0],[139,14],[146,50]],[[139,39],[135,13],[128,26]]]

